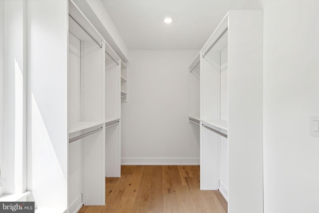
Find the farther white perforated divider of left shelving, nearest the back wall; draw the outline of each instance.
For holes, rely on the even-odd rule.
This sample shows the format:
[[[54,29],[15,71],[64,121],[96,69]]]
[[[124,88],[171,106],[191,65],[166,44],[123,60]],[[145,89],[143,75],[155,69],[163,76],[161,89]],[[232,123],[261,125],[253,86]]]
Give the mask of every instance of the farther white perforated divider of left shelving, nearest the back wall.
[[[105,177],[121,177],[121,61],[119,64],[106,56],[106,123],[107,125],[119,120],[119,123],[106,127],[105,137]],[[114,122],[113,122],[114,121]]]

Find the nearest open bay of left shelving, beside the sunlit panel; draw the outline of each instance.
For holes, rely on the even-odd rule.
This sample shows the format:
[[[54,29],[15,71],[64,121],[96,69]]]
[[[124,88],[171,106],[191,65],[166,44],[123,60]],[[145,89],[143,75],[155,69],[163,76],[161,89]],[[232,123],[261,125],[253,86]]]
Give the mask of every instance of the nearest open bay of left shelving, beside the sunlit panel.
[[[82,204],[105,205],[104,58],[103,37],[69,1],[68,209],[72,213]]]

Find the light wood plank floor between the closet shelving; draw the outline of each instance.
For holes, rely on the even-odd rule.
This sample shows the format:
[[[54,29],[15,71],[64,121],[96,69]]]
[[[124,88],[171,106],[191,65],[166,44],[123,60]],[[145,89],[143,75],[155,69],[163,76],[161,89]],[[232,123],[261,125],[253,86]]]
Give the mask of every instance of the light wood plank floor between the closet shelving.
[[[199,190],[199,166],[122,166],[106,178],[105,203],[79,213],[227,213],[219,191]]]

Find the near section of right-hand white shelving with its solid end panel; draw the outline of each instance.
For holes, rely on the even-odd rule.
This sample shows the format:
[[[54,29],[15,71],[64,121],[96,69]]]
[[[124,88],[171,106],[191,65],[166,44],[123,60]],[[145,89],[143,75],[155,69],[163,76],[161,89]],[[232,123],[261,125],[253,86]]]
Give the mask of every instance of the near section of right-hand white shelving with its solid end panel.
[[[229,213],[263,212],[262,35],[262,11],[229,11],[200,51],[200,189]]]

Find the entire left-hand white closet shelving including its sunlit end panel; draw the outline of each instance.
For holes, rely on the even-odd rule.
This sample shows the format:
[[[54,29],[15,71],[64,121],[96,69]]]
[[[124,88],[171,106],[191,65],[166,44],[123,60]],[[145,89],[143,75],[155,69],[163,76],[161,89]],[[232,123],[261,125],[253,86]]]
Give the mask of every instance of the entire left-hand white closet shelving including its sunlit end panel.
[[[121,175],[122,62],[72,0],[29,0],[27,14],[28,201],[105,205],[105,176]]]

